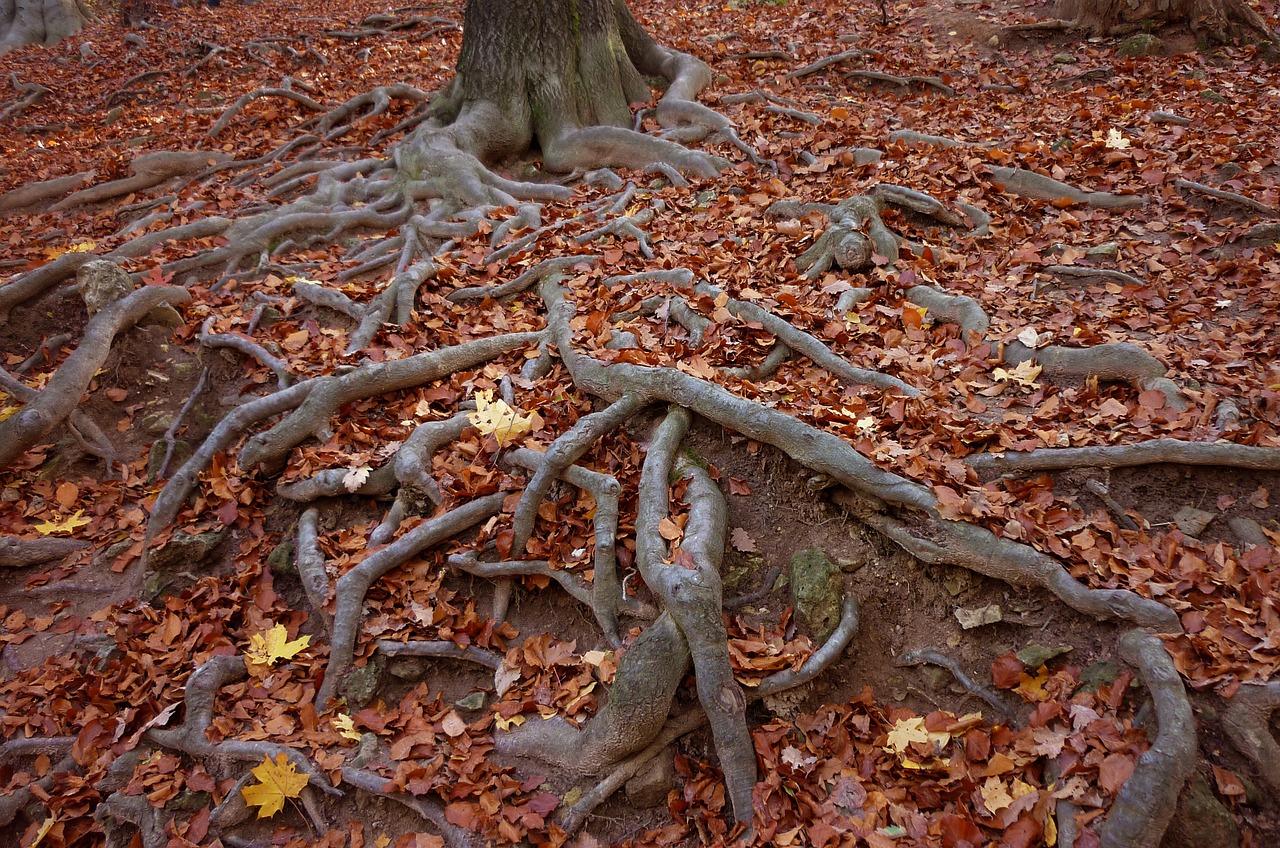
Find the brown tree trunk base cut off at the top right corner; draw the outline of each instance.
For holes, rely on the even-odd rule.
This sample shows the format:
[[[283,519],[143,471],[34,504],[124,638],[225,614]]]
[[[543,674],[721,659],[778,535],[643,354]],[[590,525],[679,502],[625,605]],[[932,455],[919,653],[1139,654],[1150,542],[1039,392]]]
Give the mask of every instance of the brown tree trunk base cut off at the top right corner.
[[[1275,40],[1248,0],[1059,0],[1056,14],[1096,36],[1180,23],[1204,44]]]

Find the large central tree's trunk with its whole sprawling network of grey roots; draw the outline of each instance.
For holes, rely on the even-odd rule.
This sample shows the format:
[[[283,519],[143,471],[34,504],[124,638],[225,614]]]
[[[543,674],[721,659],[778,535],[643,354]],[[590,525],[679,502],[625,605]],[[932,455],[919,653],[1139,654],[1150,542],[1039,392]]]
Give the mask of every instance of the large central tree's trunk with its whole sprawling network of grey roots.
[[[534,5],[540,6],[540,14],[530,12]],[[572,26],[563,26],[567,20],[572,20]],[[371,302],[356,304],[335,288],[312,281],[294,282],[293,293],[300,301],[351,319],[347,354],[355,355],[374,347],[385,325],[413,319],[420,288],[436,277],[440,256],[453,249],[456,240],[489,227],[490,218],[498,218],[495,210],[515,209],[516,214],[493,225],[485,264],[503,261],[538,237],[567,225],[543,225],[541,204],[567,199],[568,188],[557,183],[512,181],[499,175],[488,163],[536,146],[543,164],[550,170],[576,175],[595,172],[590,178],[613,184],[617,195],[571,219],[590,227],[573,241],[585,247],[602,238],[632,238],[645,259],[653,259],[653,250],[643,228],[653,220],[655,206],[650,204],[649,209],[635,211],[636,186],[623,187],[616,174],[598,169],[655,169],[672,184],[680,174],[712,178],[727,160],[686,146],[707,140],[726,145],[726,152],[749,163],[768,164],[737,136],[727,118],[698,102],[699,92],[710,82],[707,65],[654,42],[621,0],[547,0],[543,4],[472,0],[467,4],[465,32],[458,76],[429,108],[415,113],[408,122],[415,126],[406,127],[408,136],[388,155],[329,161],[307,160],[303,154],[300,161],[269,178],[278,196],[292,196],[310,187],[301,197],[280,206],[256,209],[237,219],[204,219],[202,224],[197,222],[140,236],[106,256],[127,259],[146,252],[157,241],[216,236],[220,240],[216,246],[169,263],[160,270],[182,283],[202,275],[207,278],[210,272],[219,273],[212,283],[218,289],[242,274],[247,263],[253,272],[264,270],[273,264],[274,256],[289,249],[326,243],[352,233],[379,233],[357,245],[349,255],[358,263],[357,274],[394,268],[387,288]],[[819,69],[815,63],[801,72]],[[645,77],[660,77],[667,82],[654,108],[660,136],[634,128],[637,122],[630,104],[648,99]],[[270,94],[271,90],[262,91]],[[417,102],[422,99],[420,95],[408,87],[387,87],[376,96],[348,101],[314,118],[308,127],[316,133],[315,138],[332,141],[343,135],[357,111],[380,114],[392,97]],[[233,114],[224,113],[218,128]],[[294,146],[289,142],[262,160],[233,164],[269,165],[297,154],[307,143]],[[315,149],[308,150],[315,152]],[[191,161],[183,161],[193,168],[192,163],[202,156],[191,154],[188,159]],[[225,164],[209,163],[211,168]],[[165,170],[164,174],[165,178],[188,178],[189,170],[179,174]],[[1132,209],[1142,202],[1106,192],[1083,192],[1016,169],[995,169],[995,177],[997,183],[1011,184],[1011,191],[1019,191],[1020,186],[1021,193],[1033,197],[1066,197],[1108,210]],[[78,186],[78,182],[74,186],[60,183],[59,188],[70,191]],[[111,193],[115,188],[90,196],[115,196]],[[989,232],[991,218],[974,206],[961,205],[957,213],[928,195],[893,184],[879,184],[837,202],[781,201],[768,214],[774,219],[805,215],[826,219],[812,247],[794,257],[797,272],[817,279],[828,272],[865,272],[881,260],[893,265],[906,252],[915,252],[918,246],[886,223],[886,213],[891,209],[960,229],[969,238]],[[504,245],[508,237],[515,241]],[[513,250],[512,245],[522,246]],[[0,309],[8,310],[46,292],[92,259],[87,255],[59,259],[20,274],[0,289]],[[691,269],[662,268],[613,277],[605,281],[605,288],[645,284],[669,289],[641,301],[635,315],[660,313],[673,319],[687,332],[695,348],[712,332],[713,322],[701,314],[708,311],[707,304],[712,304],[713,310],[723,310],[732,319],[772,336],[773,347],[759,366],[718,373],[713,369],[708,374],[675,365],[635,364],[626,357],[626,351],[637,342],[634,336],[628,341],[622,333],[611,348],[617,356],[608,357],[593,348],[584,341],[582,310],[576,302],[579,292],[571,287],[570,274],[600,259],[596,254],[557,256],[504,283],[458,288],[442,298],[448,304],[485,304],[532,289],[536,297],[530,300],[540,306],[545,320],[541,329],[489,334],[398,359],[369,356],[360,364],[343,365],[330,374],[308,379],[294,379],[279,357],[256,342],[212,332],[215,319],[204,322],[197,337],[202,345],[252,357],[275,373],[278,388],[236,406],[168,478],[150,510],[142,541],[143,561],[152,556],[154,543],[164,541],[172,525],[179,523],[201,475],[215,460],[225,468],[223,455],[237,444],[238,466],[244,474],[273,474],[288,464],[300,446],[312,439],[329,441],[334,420],[351,414],[357,402],[483,369],[502,357],[522,356],[520,373],[508,374],[500,383],[499,392],[507,404],[515,400],[517,382],[527,386],[553,369],[563,369],[559,373],[567,374],[566,391],[577,392],[598,406],[582,411],[544,452],[498,442],[503,448],[498,451],[498,461],[511,471],[500,485],[486,484],[483,493],[454,498],[445,496],[440,482],[433,477],[431,456],[458,441],[480,418],[480,410],[462,406],[453,409],[448,418],[416,427],[381,457],[378,468],[364,469],[366,474],[353,478],[347,469],[328,469],[279,484],[278,494],[283,500],[305,505],[294,535],[294,565],[306,602],[328,640],[328,665],[315,693],[315,712],[308,715],[314,717],[338,706],[344,684],[365,656],[362,646],[374,644],[385,657],[462,661],[493,670],[498,678],[503,675],[506,660],[486,649],[445,640],[364,638],[367,599],[376,582],[430,548],[461,543],[468,550],[444,559],[443,567],[492,580],[498,598],[495,620],[503,619],[513,579],[549,579],[590,608],[605,642],[625,646],[608,698],[590,719],[575,724],[557,716],[495,733],[494,746],[502,756],[536,760],[568,775],[598,779],[576,803],[562,811],[559,824],[564,830],[572,833],[580,828],[612,792],[636,776],[654,757],[664,756],[673,740],[704,724],[710,729],[723,771],[728,808],[736,825],[749,830],[756,812],[753,790],[759,778],[748,725],[749,705],[809,683],[837,662],[855,638],[859,608],[846,587],[840,598],[838,620],[826,642],[801,665],[776,671],[744,690],[735,679],[723,617],[726,598],[721,573],[728,538],[726,497],[712,471],[687,451],[686,433],[696,416],[727,433],[769,444],[814,471],[851,516],[924,562],[960,566],[1014,585],[1043,589],[1085,616],[1137,625],[1124,635],[1120,651],[1138,669],[1155,699],[1158,735],[1098,833],[1108,848],[1157,844],[1174,799],[1192,771],[1196,749],[1194,721],[1181,679],[1156,635],[1180,633],[1183,625],[1178,614],[1152,597],[1128,589],[1083,584],[1059,557],[1016,538],[957,520],[940,502],[934,489],[886,470],[842,436],[753,400],[755,395],[746,391],[733,391],[742,383],[768,382],[783,361],[796,357],[832,374],[846,388],[902,401],[923,395],[906,377],[855,365],[799,322],[745,295],[735,297],[710,281],[699,279]],[[847,310],[870,296],[869,289],[854,291],[855,296],[841,297],[838,310]],[[956,324],[961,333],[959,346],[974,348],[991,341],[987,334],[992,320],[977,300],[928,284],[911,286],[905,296],[909,302],[925,307],[934,320]],[[64,421],[83,430],[83,419],[77,420],[76,407],[105,361],[111,341],[157,305],[182,305],[188,297],[182,286],[147,286],[106,306],[88,323],[79,347],[40,392],[18,388],[20,380],[4,374],[6,391],[14,387],[13,393],[22,395],[19,400],[24,406],[0,423],[0,464],[17,460]],[[621,320],[628,315],[618,313],[607,319]],[[1047,382],[1120,382],[1138,391],[1161,393],[1169,409],[1185,404],[1183,389],[1166,377],[1165,365],[1135,345],[1036,348],[1014,343],[1002,355],[1009,365],[1030,364],[1042,369]],[[202,387],[204,380],[197,391]],[[620,551],[627,550],[618,542],[623,483],[618,477],[577,464],[602,439],[625,427],[648,434],[635,492],[634,564],[652,602],[637,598],[618,575],[623,567]],[[253,432],[255,428],[261,429]],[[1078,465],[1114,468],[1172,459],[1275,469],[1280,465],[1276,455],[1277,448],[1193,447],[1185,442],[1162,441],[1129,450],[1064,448],[1061,452],[984,455],[970,465],[977,470],[1018,471]],[[549,519],[543,507],[561,482],[594,501],[590,584],[545,559],[532,559],[538,552],[530,542],[540,528],[545,529]],[[518,497],[513,497],[520,487]],[[673,493],[687,507],[682,510],[684,524],[678,526],[672,521]],[[358,562],[332,579],[317,526],[332,502],[329,498],[340,496],[375,502],[389,500],[390,505]],[[442,507],[439,514],[435,514],[436,507]],[[499,524],[506,526],[508,510],[509,535],[498,537],[500,542],[494,538],[476,543],[477,537]],[[413,523],[419,512],[424,514],[424,520]],[[0,565],[44,562],[69,556],[76,550],[3,538]],[[640,628],[639,635],[630,640],[625,638],[628,630],[621,625],[625,619]],[[911,660],[938,662],[934,653],[919,653]],[[698,707],[672,715],[690,670]],[[292,748],[236,739],[210,742],[206,730],[218,690],[247,675],[243,657],[212,657],[187,679],[182,722],[173,728],[150,728],[141,734],[140,742],[150,749],[177,751],[216,763],[228,776],[233,763],[283,754],[307,775],[308,785],[317,792],[335,795],[356,789],[387,794],[431,821],[449,844],[475,842],[474,835],[458,828],[434,799],[397,792],[383,775],[365,770],[367,763],[342,765],[344,788],[335,788],[324,770]],[[961,683],[965,680],[956,676]],[[1254,697],[1263,698],[1262,694]],[[993,706],[1001,703],[995,697],[984,699]],[[1263,707],[1270,710],[1271,705],[1268,692],[1252,712],[1236,715],[1239,734],[1256,737],[1257,712]],[[65,747],[61,740],[47,740],[47,744],[59,753]],[[1266,749],[1265,742],[1257,744]],[[136,765],[142,751],[131,754],[131,762]],[[29,754],[26,749],[14,753]],[[74,763],[58,769],[64,765],[69,770]],[[127,765],[122,763],[116,772]],[[101,817],[131,822],[142,834],[146,848],[159,848],[166,840],[163,813],[140,804],[136,795],[119,792],[120,776],[111,774],[99,784],[105,798]],[[244,817],[243,804],[237,806],[237,793],[230,793],[212,812],[215,828],[229,831]],[[27,801],[29,798],[23,803]],[[315,817],[312,806],[314,802],[307,811]]]

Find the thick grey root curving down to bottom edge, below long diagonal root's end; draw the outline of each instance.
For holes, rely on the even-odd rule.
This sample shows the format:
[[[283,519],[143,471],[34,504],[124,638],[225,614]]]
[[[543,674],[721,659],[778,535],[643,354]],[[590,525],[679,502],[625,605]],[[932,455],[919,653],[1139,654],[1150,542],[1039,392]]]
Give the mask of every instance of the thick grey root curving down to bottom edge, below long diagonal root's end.
[[[1129,630],[1120,637],[1120,656],[1138,669],[1151,693],[1160,731],[1116,794],[1098,835],[1103,848],[1156,848],[1196,770],[1196,717],[1164,642]]]

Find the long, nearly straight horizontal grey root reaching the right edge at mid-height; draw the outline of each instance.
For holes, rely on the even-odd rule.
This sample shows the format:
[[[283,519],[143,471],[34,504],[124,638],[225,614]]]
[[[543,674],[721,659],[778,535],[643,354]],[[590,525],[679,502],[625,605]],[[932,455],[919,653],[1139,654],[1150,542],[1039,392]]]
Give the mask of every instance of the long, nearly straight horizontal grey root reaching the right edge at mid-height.
[[[1280,447],[1253,447],[1231,442],[1152,439],[1137,444],[1044,447],[1018,453],[975,453],[965,462],[979,471],[1061,471],[1070,468],[1132,468],[1135,465],[1217,465],[1254,470],[1280,470]]]

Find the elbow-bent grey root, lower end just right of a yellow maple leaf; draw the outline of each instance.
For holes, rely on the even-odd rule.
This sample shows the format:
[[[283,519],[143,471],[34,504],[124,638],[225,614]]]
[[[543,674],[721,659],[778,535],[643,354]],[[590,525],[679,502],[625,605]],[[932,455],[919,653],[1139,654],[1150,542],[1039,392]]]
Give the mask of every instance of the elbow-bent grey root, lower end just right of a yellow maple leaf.
[[[334,587],[337,611],[333,616],[329,666],[325,669],[324,681],[316,694],[316,705],[320,708],[328,706],[334,698],[351,667],[365,607],[365,594],[374,580],[426,548],[475,526],[492,515],[497,515],[504,497],[503,492],[495,492],[428,519],[387,547],[366,556],[360,565],[338,579]]]

